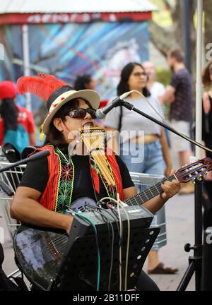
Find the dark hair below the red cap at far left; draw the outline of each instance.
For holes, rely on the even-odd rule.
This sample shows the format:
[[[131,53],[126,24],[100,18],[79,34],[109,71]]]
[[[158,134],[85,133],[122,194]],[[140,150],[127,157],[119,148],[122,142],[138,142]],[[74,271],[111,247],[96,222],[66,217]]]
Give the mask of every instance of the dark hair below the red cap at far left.
[[[16,131],[18,128],[18,108],[13,98],[2,100],[0,106],[0,114],[4,121],[4,134],[8,129]]]

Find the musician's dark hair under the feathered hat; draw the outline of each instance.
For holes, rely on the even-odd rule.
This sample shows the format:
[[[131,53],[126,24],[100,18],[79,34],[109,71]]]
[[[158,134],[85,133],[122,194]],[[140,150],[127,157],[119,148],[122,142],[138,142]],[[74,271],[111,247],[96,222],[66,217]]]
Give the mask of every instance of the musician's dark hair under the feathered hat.
[[[84,99],[83,99],[84,100]],[[86,101],[86,104],[88,104],[88,106],[90,108],[92,108],[90,102]],[[61,133],[61,131],[59,131],[55,126],[54,126],[54,119],[55,118],[59,118],[62,121],[66,121],[66,115],[69,114],[69,112],[73,109],[77,109],[79,106],[79,100],[78,98],[70,100],[69,102],[66,102],[66,104],[64,104],[59,110],[58,112],[54,115],[51,123],[49,124],[49,133],[46,136],[45,139],[45,143],[44,145],[47,144],[53,144],[58,146],[59,148],[65,148],[64,151],[66,151],[66,149],[68,148],[68,144],[66,143],[65,139],[64,139],[64,135],[63,133]]]

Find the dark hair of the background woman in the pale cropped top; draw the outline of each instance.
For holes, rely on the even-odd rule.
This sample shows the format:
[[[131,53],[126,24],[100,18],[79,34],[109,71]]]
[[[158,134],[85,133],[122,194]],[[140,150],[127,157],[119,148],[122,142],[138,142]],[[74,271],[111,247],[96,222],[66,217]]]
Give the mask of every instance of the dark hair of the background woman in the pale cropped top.
[[[117,95],[122,95],[124,92],[129,91],[128,80],[129,80],[129,77],[131,76],[131,73],[135,66],[140,66],[141,68],[143,68],[143,66],[139,63],[130,62],[129,64],[124,66],[124,68],[122,69],[121,79],[119,81],[119,84],[117,85]],[[145,70],[145,69],[143,68],[143,70]],[[143,95],[145,97],[148,97],[151,95],[150,92],[148,91],[147,87],[143,88]]]

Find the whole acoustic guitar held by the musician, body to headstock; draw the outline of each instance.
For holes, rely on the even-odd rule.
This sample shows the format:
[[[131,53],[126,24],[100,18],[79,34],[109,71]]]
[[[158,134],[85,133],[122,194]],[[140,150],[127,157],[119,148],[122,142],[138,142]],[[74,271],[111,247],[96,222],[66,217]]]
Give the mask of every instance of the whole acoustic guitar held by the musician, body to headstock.
[[[207,172],[211,169],[212,169],[211,159],[205,158],[202,160],[198,160],[192,163],[192,165],[179,169],[177,172],[175,172],[175,175],[172,175],[167,179],[160,181],[158,184],[151,186],[150,189],[146,189],[145,191],[134,196],[133,198],[124,201],[124,203],[126,203],[126,205],[129,207],[131,207],[131,205],[133,206],[136,205],[137,207],[139,206],[141,208],[141,205],[143,203],[145,203],[146,201],[150,200],[155,196],[158,196],[159,193],[163,192],[161,184],[164,183],[165,181],[167,180],[172,181],[173,179],[178,179],[181,182],[187,182],[190,180],[200,179],[201,177],[204,177],[204,175],[207,174]],[[86,204],[96,205],[93,199],[79,198],[77,201],[73,202],[71,208],[73,208],[73,210],[76,210],[76,212],[78,213],[85,212]],[[145,208],[143,209],[145,210]],[[137,210],[134,208],[133,213],[134,211]],[[131,212],[132,211],[129,210],[129,213]],[[139,211],[139,218],[138,218],[139,226],[137,226],[138,232],[136,232],[136,236],[141,236],[142,232],[145,231],[145,228],[149,227],[151,223],[151,222],[148,223],[145,222],[145,220],[148,220],[150,215],[146,214],[145,217],[142,215],[144,214],[140,213]],[[89,217],[92,217],[92,213],[89,215]],[[150,218],[152,219],[152,217]],[[142,229],[142,225],[140,224],[140,221],[142,219],[144,220],[143,222],[144,229]],[[52,284],[52,279],[55,278],[55,276],[59,271],[59,268],[61,267],[61,265],[63,265],[64,258],[68,255],[66,249],[68,248],[71,249],[71,247],[74,244],[74,241],[78,237],[81,238],[87,235],[84,241],[88,242],[88,249],[92,254],[92,258],[95,256],[95,251],[96,251],[95,241],[93,241],[94,244],[93,252],[91,251],[91,248],[89,248],[91,246],[91,239],[89,236],[89,234],[91,234],[92,232],[92,229],[90,228],[91,226],[88,225],[88,222],[85,221],[83,221],[83,225],[81,224],[78,226],[77,222],[74,222],[74,220],[75,218],[73,219],[73,223],[71,226],[71,234],[69,238],[63,230],[59,230],[59,229],[50,229],[47,227],[32,227],[32,226],[28,227],[25,225],[21,225],[17,229],[16,234],[14,235],[13,238],[13,247],[16,254],[16,261],[18,267],[20,268],[20,270],[23,271],[25,276],[28,277],[28,280],[30,280],[30,282],[36,285],[38,288],[43,290],[48,290],[48,288],[50,287],[49,285]],[[110,219],[110,221],[112,221],[112,218]],[[107,234],[105,232],[104,234],[106,234],[105,236],[108,238],[107,222],[103,222],[103,225],[105,225],[106,227],[105,232],[107,232]],[[80,231],[77,231],[78,229],[77,226],[81,229]],[[155,238],[157,234],[155,234]],[[101,239],[100,243],[101,242],[104,244],[105,243],[104,239]],[[145,242],[145,240],[143,242]],[[151,249],[151,245],[149,247],[150,248],[148,249],[148,251]],[[83,251],[82,253],[85,254]],[[74,253],[72,253],[70,259],[72,259],[73,256]],[[92,258],[90,258],[90,260]],[[83,262],[85,261],[84,256],[82,260]],[[76,263],[76,261],[74,262]],[[90,264],[89,260],[88,260],[88,264]],[[64,270],[65,269],[66,266],[64,267]],[[93,273],[93,270],[94,269],[90,271],[90,274]],[[107,270],[110,270],[110,268],[108,267]],[[107,271],[105,273],[107,273]]]

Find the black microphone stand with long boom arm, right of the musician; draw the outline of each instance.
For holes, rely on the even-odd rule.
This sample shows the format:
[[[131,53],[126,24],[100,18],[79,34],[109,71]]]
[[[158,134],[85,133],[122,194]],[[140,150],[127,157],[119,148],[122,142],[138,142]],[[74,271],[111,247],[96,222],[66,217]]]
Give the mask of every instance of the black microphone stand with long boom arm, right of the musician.
[[[123,100],[122,106],[126,109],[129,109],[130,111],[133,110],[134,112],[145,116],[147,119],[150,119],[151,121],[155,122],[156,124],[163,126],[164,128],[167,128],[169,131],[177,134],[178,136],[181,136],[185,140],[188,140],[190,143],[193,143],[194,145],[199,146],[200,148],[203,148],[201,144],[197,143],[196,141],[187,138],[187,136],[184,136],[175,129],[173,129],[171,126],[168,126],[167,124],[158,121],[157,119],[149,116],[148,114],[142,112],[139,109],[136,109],[133,104],[130,104],[129,102],[126,102]],[[201,274],[201,265],[202,265],[202,198],[203,198],[203,181],[199,181],[196,179],[195,181],[195,193],[194,193],[194,229],[195,229],[195,242],[194,246],[191,246],[190,244],[186,244],[184,246],[184,250],[189,252],[190,250],[194,250],[194,256],[189,257],[189,266],[184,273],[184,276],[182,277],[181,282],[179,283],[179,286],[177,287],[177,291],[182,291],[187,288],[187,285],[189,284],[189,281],[192,278],[192,275],[195,272],[195,290],[200,291],[201,290],[201,279],[204,278],[204,275]],[[204,262],[203,262],[204,263]]]

